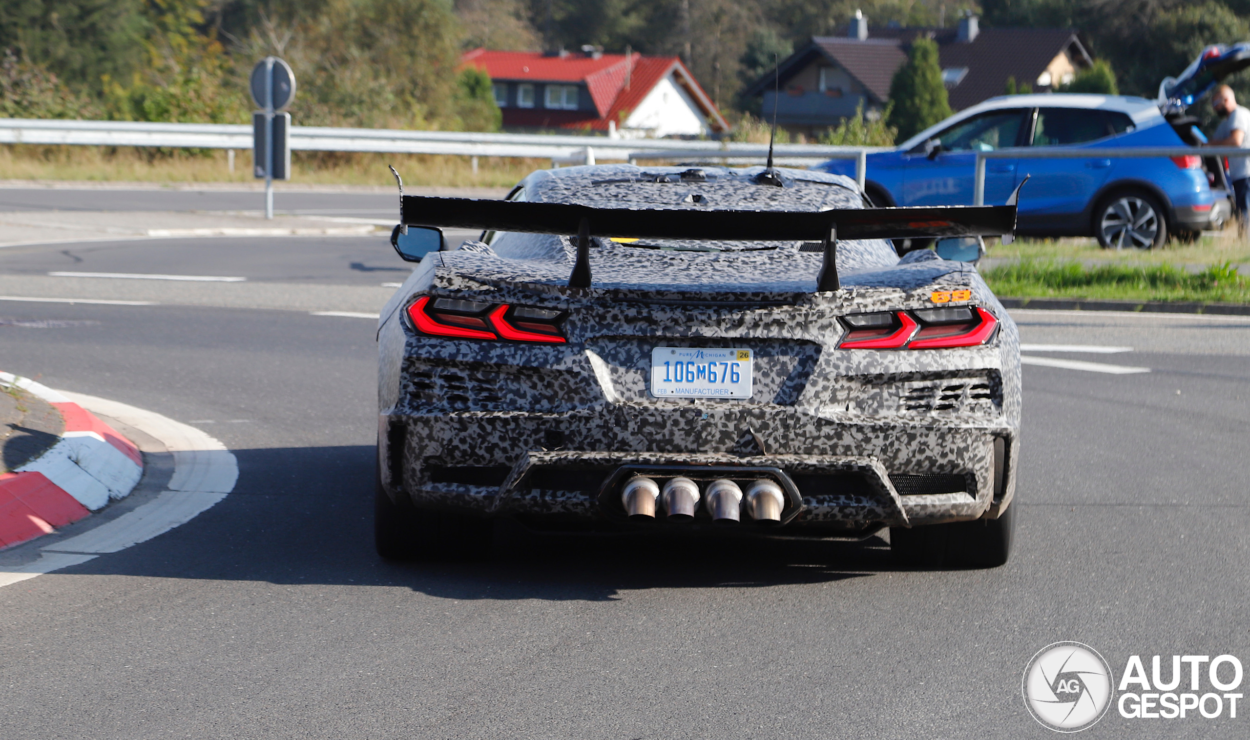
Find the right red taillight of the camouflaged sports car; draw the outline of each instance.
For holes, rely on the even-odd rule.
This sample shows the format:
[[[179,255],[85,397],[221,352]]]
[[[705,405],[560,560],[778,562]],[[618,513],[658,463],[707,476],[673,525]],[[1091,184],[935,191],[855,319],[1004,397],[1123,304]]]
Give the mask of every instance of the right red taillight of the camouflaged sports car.
[[[858,313],[842,323],[841,349],[945,349],[989,342],[999,319],[980,307],[951,307]]]

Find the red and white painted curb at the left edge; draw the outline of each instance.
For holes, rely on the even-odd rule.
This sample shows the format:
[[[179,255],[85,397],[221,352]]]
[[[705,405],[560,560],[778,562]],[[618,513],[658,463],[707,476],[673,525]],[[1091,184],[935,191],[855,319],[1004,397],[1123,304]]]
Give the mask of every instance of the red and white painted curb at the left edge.
[[[112,427],[30,378],[0,373],[0,383],[42,398],[65,419],[65,432],[48,452],[0,474],[0,548],[78,522],[139,483],[142,457]]]

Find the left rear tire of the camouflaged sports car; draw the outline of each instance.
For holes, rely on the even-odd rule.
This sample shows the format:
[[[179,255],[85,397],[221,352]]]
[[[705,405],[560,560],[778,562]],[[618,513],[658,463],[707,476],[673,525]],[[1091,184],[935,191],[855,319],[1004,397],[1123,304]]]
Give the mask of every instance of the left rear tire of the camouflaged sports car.
[[[379,475],[374,492],[374,548],[388,560],[470,560],[490,554],[490,519],[418,509],[392,502]]]

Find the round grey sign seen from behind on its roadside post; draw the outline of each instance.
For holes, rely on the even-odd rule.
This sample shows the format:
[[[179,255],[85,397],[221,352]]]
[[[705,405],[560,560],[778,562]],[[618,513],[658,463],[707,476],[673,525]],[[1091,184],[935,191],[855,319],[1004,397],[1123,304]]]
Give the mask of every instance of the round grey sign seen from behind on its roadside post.
[[[274,180],[291,177],[291,115],[280,112],[295,99],[295,72],[281,59],[266,56],[251,69],[252,165],[265,178],[265,218],[274,217]]]

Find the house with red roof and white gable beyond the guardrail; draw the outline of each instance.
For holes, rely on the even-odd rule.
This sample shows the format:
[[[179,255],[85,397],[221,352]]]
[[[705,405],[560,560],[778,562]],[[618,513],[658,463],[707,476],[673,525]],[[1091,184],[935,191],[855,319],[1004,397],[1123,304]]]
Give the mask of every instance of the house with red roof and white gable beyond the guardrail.
[[[729,124],[676,56],[474,49],[461,64],[490,75],[504,129],[574,129],[621,137],[702,136]]]

